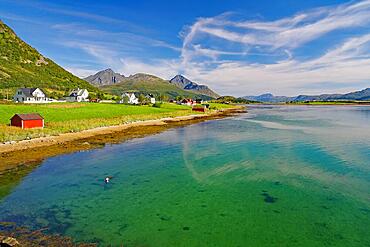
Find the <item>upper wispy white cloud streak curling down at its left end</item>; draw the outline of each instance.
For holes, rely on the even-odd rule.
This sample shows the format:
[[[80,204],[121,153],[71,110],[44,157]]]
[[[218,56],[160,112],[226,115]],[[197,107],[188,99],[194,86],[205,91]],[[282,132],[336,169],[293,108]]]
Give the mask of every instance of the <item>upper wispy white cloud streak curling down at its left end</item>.
[[[317,8],[276,21],[231,21],[228,15],[200,18],[184,39],[188,47],[200,35],[244,45],[296,48],[329,32],[370,23],[370,1]],[[232,31],[232,28],[239,28]]]

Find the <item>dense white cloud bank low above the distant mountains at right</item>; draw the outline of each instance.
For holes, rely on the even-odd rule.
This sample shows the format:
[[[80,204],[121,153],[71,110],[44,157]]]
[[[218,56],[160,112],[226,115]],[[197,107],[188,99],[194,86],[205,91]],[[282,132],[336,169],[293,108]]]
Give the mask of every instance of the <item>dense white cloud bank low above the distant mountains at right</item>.
[[[327,92],[355,90],[356,82],[370,85],[370,35],[351,38],[323,56],[300,62],[295,59],[273,64],[225,62],[217,68],[193,74],[229,94],[257,94],[273,90],[277,94],[322,93],[323,89],[310,86],[335,83]],[[367,52],[366,52],[367,51]],[[354,83],[348,87],[348,83]],[[340,85],[343,85],[342,87]]]

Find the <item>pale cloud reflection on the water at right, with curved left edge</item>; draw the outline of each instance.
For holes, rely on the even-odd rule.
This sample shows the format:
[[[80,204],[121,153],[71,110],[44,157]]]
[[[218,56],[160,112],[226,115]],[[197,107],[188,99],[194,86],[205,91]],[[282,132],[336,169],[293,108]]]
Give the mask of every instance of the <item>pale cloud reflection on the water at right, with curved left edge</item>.
[[[369,203],[369,112],[365,106],[254,106],[212,128],[186,128],[179,138],[184,164],[199,183],[227,176],[302,187],[309,179]]]

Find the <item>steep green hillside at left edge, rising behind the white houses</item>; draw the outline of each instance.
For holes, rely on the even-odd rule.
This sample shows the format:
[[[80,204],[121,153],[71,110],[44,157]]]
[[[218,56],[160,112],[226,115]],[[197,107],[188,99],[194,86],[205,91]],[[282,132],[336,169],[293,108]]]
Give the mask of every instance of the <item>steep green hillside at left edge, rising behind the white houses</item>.
[[[0,20],[0,98],[18,87],[40,87],[55,96],[76,87],[99,91],[43,57]]]

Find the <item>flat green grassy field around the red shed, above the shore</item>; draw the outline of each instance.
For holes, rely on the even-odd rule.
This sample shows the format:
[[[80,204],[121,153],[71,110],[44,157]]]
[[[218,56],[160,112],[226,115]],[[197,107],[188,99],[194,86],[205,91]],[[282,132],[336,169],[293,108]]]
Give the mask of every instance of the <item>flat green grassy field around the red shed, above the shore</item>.
[[[216,110],[232,106],[211,104],[211,107]],[[44,129],[22,130],[9,126],[10,118],[15,113],[34,112],[45,118]],[[164,103],[160,107],[96,103],[0,104],[0,142],[190,114],[199,113],[191,111],[189,106],[170,103]]]

